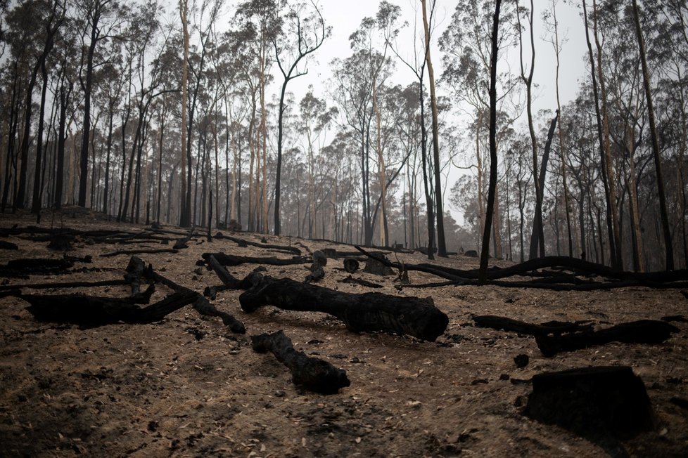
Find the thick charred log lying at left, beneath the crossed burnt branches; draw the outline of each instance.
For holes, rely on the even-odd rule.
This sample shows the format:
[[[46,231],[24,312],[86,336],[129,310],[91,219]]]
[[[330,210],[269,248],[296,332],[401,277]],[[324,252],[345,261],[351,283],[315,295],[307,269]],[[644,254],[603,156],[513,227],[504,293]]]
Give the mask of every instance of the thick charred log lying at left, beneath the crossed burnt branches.
[[[145,295],[150,299],[153,289],[151,286],[146,293],[127,299],[83,294],[22,294],[19,297],[31,304],[27,310],[39,321],[96,327],[117,322],[145,324],[160,321],[193,303],[197,296],[174,293],[144,308],[136,305],[144,300]]]

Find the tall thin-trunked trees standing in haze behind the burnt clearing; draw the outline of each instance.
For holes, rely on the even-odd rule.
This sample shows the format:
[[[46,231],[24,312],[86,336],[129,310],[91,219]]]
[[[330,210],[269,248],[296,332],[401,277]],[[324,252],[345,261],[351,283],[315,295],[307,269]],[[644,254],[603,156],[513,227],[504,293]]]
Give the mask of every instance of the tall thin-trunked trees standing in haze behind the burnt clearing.
[[[578,1],[587,71],[571,101],[559,100],[561,2],[499,3],[493,60],[495,1],[457,1],[442,34],[435,0],[419,0],[411,24],[382,1],[322,93],[296,99],[291,81],[314,78],[331,37],[317,2],[2,0],[0,211],[234,220],[429,256],[488,234],[499,259],[685,267],[686,1]],[[537,60],[543,36],[554,68]],[[404,68],[414,81],[393,83]],[[534,112],[540,83],[556,85],[556,106]]]

